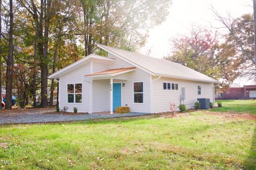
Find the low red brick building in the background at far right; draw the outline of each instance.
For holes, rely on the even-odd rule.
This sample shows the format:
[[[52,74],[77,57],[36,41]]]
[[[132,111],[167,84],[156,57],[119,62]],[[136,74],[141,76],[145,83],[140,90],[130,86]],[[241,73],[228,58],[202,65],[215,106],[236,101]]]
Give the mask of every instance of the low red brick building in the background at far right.
[[[217,91],[215,99],[253,99],[256,98],[256,85],[243,87],[229,87],[227,90]]]

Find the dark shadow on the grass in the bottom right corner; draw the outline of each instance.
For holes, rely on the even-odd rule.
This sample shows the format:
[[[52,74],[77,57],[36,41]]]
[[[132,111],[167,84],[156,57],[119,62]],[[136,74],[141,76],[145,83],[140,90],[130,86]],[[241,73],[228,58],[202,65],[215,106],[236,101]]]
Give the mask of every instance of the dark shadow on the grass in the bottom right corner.
[[[251,150],[244,162],[244,168],[248,170],[256,169],[256,126],[254,128]]]

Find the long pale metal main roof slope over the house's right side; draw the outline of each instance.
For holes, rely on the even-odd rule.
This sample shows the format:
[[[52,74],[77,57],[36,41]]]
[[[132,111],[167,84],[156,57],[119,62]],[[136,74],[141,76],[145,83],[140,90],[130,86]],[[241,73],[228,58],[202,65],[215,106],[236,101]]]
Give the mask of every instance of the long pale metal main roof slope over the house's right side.
[[[219,83],[218,80],[210,78],[205,74],[199,73],[179,63],[174,63],[119,48],[108,47],[101,44],[97,44],[97,46],[111,54],[123,58],[123,60],[133,63],[135,66],[142,67],[149,73],[156,76],[161,75],[162,77]]]

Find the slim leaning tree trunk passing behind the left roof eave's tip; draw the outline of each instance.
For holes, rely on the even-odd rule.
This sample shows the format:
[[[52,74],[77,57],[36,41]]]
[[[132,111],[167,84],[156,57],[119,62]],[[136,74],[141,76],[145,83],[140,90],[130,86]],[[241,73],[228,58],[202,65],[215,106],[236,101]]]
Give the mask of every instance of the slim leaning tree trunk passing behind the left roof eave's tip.
[[[58,38],[54,49],[54,56],[53,56],[53,66],[52,66],[52,73],[55,73],[55,63],[57,61],[57,55],[59,50],[59,44],[60,44],[60,35],[61,34],[61,28],[59,28],[58,32]],[[51,94],[50,94],[50,106],[53,106],[53,91],[54,91],[54,79],[52,79],[51,82]]]

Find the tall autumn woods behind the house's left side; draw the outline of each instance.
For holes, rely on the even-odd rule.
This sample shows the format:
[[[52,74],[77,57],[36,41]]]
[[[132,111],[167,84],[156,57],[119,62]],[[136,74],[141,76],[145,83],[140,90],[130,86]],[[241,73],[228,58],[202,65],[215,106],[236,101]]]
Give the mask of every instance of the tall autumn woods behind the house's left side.
[[[148,30],[165,20],[171,1],[0,0],[0,4],[0,87],[6,87],[5,108],[12,106],[13,89],[23,108],[29,101],[36,107],[37,99],[40,107],[48,106],[49,100],[52,106],[58,84],[47,76],[86,55],[104,55],[95,43],[138,50]]]

